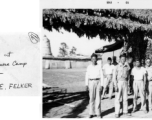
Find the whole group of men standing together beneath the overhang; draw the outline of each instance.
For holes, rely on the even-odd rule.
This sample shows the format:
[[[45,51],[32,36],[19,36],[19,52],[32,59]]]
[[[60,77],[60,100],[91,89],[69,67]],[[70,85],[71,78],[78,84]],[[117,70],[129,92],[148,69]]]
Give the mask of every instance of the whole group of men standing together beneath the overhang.
[[[91,55],[91,62],[86,71],[86,90],[89,91],[89,118],[101,117],[101,100],[105,98],[109,88],[109,99],[112,99],[115,91],[115,117],[120,117],[121,101],[123,103],[123,115],[128,113],[128,91],[133,94],[133,111],[136,112],[138,91],[141,98],[141,109],[147,113],[146,97],[149,101],[149,111],[152,111],[152,66],[151,60],[147,58],[146,65],[140,64],[140,60],[120,55],[117,63],[107,59],[103,67],[97,63],[97,55]],[[148,88],[148,89],[147,89]]]

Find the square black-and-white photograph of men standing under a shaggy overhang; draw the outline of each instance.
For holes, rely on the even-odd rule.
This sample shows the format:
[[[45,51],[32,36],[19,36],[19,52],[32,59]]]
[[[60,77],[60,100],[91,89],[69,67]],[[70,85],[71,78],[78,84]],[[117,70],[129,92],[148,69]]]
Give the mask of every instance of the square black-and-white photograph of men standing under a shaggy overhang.
[[[151,118],[152,10],[43,9],[43,118]]]

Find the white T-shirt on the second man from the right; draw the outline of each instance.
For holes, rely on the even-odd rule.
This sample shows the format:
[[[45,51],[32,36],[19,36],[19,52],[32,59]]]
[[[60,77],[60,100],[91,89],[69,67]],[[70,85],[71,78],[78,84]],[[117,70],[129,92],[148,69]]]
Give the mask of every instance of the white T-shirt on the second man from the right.
[[[140,69],[134,67],[131,71],[131,75],[134,76],[134,80],[143,80],[145,74],[146,74],[146,69],[144,67],[141,67]]]

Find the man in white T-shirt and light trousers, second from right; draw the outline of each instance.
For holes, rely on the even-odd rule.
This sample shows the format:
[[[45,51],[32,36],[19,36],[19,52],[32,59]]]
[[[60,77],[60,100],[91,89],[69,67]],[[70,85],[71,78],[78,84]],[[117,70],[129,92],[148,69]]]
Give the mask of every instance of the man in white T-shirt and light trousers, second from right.
[[[134,83],[133,83],[133,89],[134,89],[134,107],[133,112],[137,110],[137,98],[138,98],[138,91],[141,98],[141,109],[144,113],[147,113],[146,111],[146,104],[145,104],[145,85],[146,85],[146,70],[145,68],[141,67],[139,59],[135,60],[136,67],[132,69],[131,75],[133,76]]]

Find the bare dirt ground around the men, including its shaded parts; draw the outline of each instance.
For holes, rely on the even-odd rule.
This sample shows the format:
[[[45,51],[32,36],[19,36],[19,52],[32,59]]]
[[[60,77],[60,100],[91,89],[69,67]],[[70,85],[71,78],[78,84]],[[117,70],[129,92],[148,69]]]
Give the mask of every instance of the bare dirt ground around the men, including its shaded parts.
[[[67,93],[43,93],[44,118],[86,118],[89,112],[88,93],[85,92],[85,69],[50,69],[43,70],[43,82],[57,89],[67,89]],[[132,111],[133,96],[129,95],[129,112]],[[111,100],[101,100],[103,118],[114,118],[114,94]],[[140,98],[138,99],[140,108]],[[131,116],[121,118],[152,118],[152,112],[143,111],[131,113]]]

